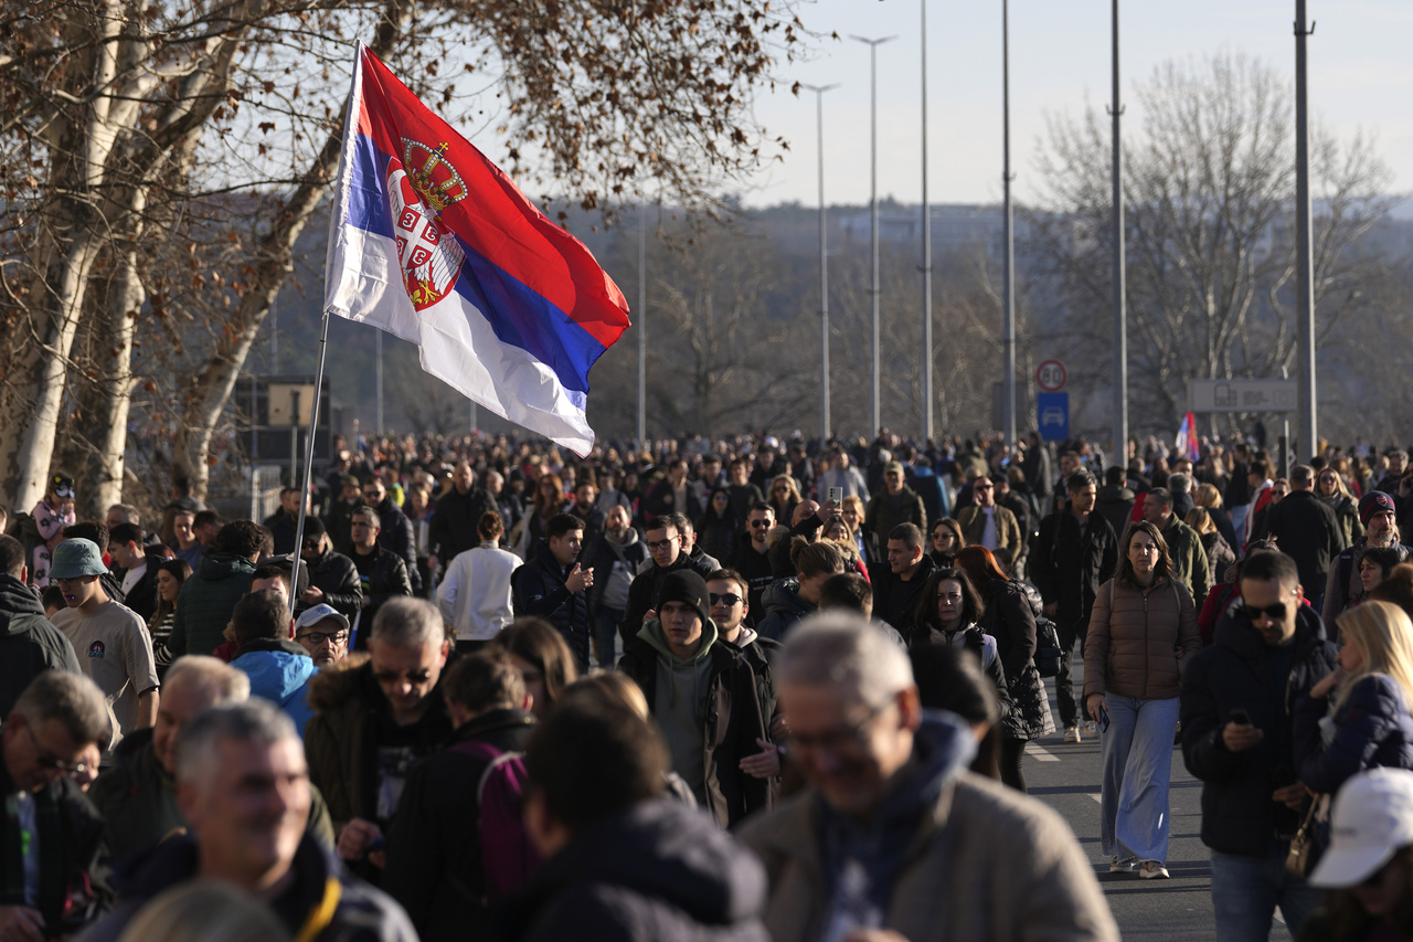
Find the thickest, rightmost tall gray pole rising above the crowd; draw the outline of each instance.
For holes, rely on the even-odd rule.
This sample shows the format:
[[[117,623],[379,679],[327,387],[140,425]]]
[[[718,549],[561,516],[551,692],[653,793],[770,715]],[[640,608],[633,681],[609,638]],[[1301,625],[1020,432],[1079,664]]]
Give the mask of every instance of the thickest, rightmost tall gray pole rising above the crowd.
[[[1310,64],[1306,58],[1306,0],[1296,0],[1296,267],[1299,269],[1299,315],[1296,320],[1296,359],[1300,365],[1297,436],[1301,451],[1314,457],[1320,447],[1316,416],[1316,290],[1314,245],[1310,232],[1310,110],[1306,96]]]

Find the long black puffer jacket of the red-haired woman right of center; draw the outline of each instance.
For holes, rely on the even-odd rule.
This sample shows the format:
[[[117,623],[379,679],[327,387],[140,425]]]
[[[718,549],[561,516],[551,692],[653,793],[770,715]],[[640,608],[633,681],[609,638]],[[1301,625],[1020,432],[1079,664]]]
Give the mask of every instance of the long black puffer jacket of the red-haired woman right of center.
[[[996,639],[1002,670],[1010,693],[1010,713],[1000,730],[1010,740],[1039,740],[1056,731],[1046,685],[1036,669],[1036,617],[1020,583],[993,578],[982,588],[986,611],[981,629]]]

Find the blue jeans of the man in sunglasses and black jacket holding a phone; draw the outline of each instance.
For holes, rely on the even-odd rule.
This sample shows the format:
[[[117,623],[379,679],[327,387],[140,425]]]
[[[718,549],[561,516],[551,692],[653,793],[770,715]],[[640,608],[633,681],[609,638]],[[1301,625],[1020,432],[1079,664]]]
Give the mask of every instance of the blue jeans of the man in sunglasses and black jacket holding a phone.
[[[1277,905],[1290,935],[1300,934],[1306,917],[1320,905],[1320,891],[1286,871],[1289,847],[1273,840],[1265,857],[1212,851],[1217,942],[1266,942]]]

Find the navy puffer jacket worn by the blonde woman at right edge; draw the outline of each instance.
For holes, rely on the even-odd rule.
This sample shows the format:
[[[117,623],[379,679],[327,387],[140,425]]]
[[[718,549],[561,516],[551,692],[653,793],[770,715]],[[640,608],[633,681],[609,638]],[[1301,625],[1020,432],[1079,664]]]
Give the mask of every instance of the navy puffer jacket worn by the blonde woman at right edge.
[[[1296,702],[1296,769],[1313,792],[1334,795],[1366,768],[1413,768],[1413,713],[1397,682],[1386,673],[1359,678],[1334,714],[1334,738],[1324,744],[1320,720],[1328,697]]]

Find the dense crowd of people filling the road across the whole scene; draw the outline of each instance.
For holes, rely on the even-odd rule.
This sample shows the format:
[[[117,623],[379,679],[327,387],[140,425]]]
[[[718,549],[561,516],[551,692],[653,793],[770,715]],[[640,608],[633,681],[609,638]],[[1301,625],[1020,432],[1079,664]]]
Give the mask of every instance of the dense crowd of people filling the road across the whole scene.
[[[1397,448],[336,444],[0,521],[0,942],[1116,939],[1061,730],[1101,868],[1169,877],[1180,743],[1218,938],[1413,939]]]

